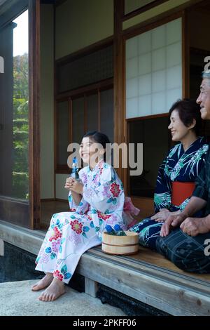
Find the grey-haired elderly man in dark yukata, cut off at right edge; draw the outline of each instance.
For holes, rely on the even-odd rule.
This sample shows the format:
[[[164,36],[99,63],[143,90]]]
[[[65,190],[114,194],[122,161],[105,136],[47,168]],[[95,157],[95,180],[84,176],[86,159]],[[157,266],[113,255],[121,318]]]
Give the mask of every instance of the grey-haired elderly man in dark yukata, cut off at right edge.
[[[202,74],[197,103],[201,107],[202,119],[210,120],[210,70]],[[204,218],[192,218],[203,208]],[[156,247],[182,270],[210,273],[210,151],[197,177],[193,197],[179,216],[167,218]]]

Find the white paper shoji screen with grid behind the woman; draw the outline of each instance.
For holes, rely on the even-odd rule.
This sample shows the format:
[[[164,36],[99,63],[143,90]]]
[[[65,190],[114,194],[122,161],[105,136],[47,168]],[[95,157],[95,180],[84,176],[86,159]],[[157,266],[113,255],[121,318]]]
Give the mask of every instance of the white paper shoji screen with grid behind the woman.
[[[126,118],[166,113],[181,96],[179,18],[126,41]]]

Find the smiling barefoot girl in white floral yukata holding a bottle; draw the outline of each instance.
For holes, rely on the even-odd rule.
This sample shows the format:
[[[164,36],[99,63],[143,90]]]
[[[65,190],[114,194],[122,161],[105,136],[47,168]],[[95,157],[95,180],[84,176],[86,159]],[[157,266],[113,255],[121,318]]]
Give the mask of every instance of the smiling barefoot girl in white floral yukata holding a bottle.
[[[95,144],[99,147],[96,158]],[[52,216],[50,227],[36,258],[36,270],[45,277],[32,287],[33,291],[45,289],[39,300],[54,301],[64,291],[78,265],[80,256],[101,244],[106,224],[118,223],[123,230],[123,184],[113,167],[104,162],[109,138],[99,132],[85,134],[80,145],[80,157],[89,166],[79,171],[81,182],[67,178],[69,212]]]

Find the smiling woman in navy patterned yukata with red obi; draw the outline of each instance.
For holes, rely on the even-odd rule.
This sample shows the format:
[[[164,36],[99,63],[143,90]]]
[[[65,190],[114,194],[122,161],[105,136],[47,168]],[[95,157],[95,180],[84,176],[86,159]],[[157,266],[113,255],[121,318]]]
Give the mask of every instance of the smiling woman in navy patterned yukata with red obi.
[[[156,250],[162,223],[180,213],[188,204],[195,187],[195,178],[204,166],[209,145],[198,137],[201,125],[200,107],[193,100],[178,100],[169,110],[169,130],[176,144],[167,154],[156,181],[155,214],[130,228],[139,232],[139,244]]]

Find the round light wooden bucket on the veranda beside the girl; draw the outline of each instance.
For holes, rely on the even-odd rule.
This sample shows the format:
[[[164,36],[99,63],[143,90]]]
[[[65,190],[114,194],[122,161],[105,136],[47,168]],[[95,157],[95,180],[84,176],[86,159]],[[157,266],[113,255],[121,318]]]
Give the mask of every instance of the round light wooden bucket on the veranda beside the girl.
[[[109,235],[103,232],[102,251],[108,254],[135,254],[139,251],[139,234],[125,232],[126,236]]]

